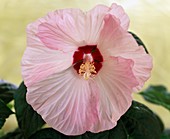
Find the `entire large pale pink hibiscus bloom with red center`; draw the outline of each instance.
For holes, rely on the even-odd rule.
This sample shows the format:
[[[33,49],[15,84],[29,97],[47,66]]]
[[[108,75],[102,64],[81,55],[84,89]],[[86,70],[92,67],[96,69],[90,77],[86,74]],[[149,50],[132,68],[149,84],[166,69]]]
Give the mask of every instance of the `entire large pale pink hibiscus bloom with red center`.
[[[57,10],[28,25],[26,100],[49,126],[66,135],[116,126],[152,69],[128,26],[116,4]]]

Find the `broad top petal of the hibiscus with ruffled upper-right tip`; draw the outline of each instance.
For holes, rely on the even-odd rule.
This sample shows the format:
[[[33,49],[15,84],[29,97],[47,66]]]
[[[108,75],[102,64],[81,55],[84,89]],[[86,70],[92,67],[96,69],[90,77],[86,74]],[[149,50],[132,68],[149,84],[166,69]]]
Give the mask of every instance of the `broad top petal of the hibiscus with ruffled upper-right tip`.
[[[28,25],[28,46],[43,45],[68,52],[79,46],[97,44],[103,18],[108,13],[119,19],[123,28],[128,27],[128,16],[116,4],[98,5],[87,13],[79,9],[57,10]]]

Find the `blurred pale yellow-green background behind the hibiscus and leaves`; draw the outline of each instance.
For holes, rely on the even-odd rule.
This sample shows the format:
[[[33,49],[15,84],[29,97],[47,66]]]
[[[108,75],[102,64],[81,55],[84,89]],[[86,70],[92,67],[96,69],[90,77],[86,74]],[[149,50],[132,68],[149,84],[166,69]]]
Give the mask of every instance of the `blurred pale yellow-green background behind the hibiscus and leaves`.
[[[153,57],[154,68],[150,84],[166,85],[170,90],[170,1],[169,0],[0,0],[0,78],[19,85],[22,81],[20,61],[26,48],[26,26],[49,11],[61,8],[89,10],[96,4],[110,6],[116,2],[130,16],[130,30],[146,44]],[[144,102],[135,94],[134,99]],[[169,111],[148,104],[166,127],[170,127]],[[16,127],[11,116],[3,130]]]

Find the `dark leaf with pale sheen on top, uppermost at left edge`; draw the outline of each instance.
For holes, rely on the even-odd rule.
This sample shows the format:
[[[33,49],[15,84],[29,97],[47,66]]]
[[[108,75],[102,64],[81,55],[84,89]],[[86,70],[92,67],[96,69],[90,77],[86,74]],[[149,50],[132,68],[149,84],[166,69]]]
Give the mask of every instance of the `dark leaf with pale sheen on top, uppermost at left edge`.
[[[0,80],[0,99],[6,104],[13,100],[13,94],[17,87],[11,83]]]

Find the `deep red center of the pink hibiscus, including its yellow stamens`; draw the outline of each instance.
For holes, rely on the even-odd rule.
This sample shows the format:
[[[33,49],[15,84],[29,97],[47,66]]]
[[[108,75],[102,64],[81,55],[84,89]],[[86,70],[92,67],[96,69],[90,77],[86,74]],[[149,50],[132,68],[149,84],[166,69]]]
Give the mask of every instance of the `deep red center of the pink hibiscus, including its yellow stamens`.
[[[74,69],[86,80],[98,73],[102,67],[102,62],[103,56],[97,45],[81,46],[73,55]]]

